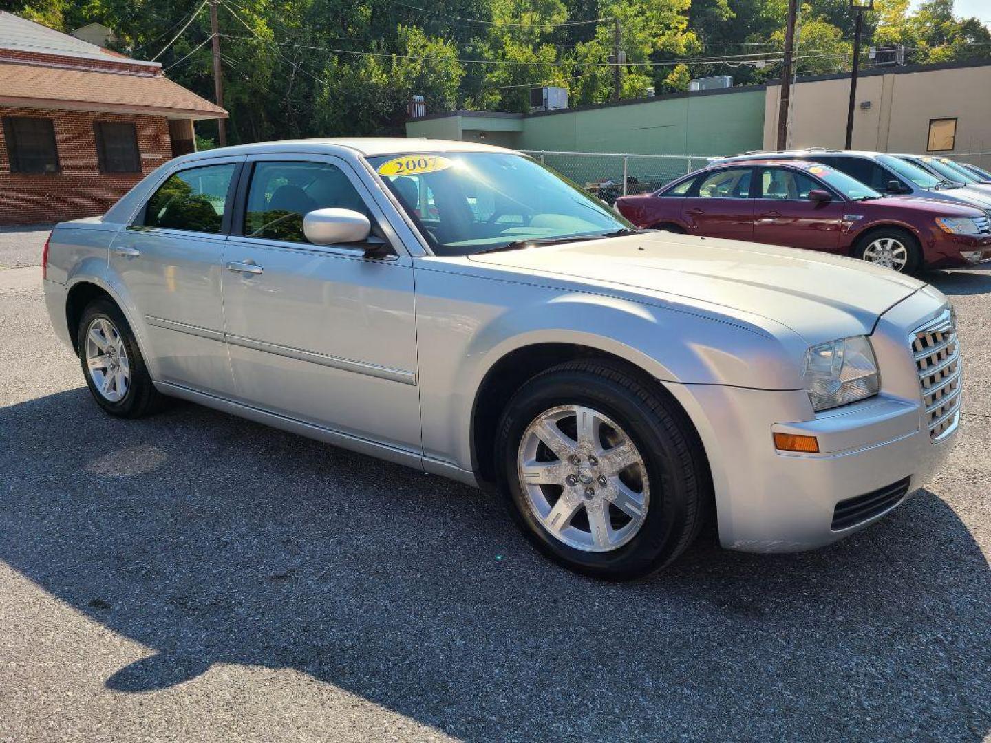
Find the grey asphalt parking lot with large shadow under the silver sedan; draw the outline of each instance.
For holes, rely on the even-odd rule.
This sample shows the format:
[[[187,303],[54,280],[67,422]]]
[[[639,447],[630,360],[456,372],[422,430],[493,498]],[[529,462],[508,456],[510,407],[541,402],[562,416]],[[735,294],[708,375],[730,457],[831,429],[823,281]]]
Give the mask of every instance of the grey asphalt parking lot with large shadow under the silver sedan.
[[[0,266],[37,265],[11,235]],[[703,540],[605,584],[457,483],[194,405],[109,418],[39,269],[0,268],[0,739],[983,740],[991,271],[929,280],[966,370],[930,489],[826,550]]]

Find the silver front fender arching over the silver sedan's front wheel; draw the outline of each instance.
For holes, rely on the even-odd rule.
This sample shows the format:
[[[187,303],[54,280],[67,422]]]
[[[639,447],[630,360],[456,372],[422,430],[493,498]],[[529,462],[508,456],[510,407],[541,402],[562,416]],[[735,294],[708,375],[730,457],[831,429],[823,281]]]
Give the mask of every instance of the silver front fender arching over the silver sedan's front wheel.
[[[550,286],[417,272],[423,449],[472,469],[472,418],[487,375],[507,355],[573,344],[622,359],[656,379],[767,389],[802,387],[806,343],[690,309]]]

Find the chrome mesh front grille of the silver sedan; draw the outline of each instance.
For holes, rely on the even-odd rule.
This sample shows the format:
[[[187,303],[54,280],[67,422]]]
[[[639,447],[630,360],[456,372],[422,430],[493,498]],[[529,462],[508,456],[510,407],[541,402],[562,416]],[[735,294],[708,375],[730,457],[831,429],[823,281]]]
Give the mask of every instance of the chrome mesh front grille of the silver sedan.
[[[963,378],[952,313],[947,309],[936,320],[916,330],[910,341],[919,372],[930,440],[936,442],[948,436],[960,421]]]

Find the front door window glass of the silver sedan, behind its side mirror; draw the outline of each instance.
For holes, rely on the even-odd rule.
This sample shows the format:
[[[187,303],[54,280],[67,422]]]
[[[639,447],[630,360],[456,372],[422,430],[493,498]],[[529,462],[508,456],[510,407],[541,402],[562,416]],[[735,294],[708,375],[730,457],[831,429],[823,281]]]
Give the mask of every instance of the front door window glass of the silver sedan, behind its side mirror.
[[[329,162],[256,162],[248,188],[244,235],[307,243],[303,217],[316,209],[351,209],[369,215],[345,172]]]

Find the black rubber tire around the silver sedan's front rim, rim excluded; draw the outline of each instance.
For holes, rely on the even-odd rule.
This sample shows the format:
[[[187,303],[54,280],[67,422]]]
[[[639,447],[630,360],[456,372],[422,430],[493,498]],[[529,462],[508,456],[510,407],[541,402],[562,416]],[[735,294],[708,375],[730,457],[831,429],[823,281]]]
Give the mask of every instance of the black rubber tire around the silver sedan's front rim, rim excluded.
[[[527,427],[559,405],[585,405],[623,429],[643,457],[650,482],[639,531],[608,552],[587,552],[552,535],[528,505],[517,474]],[[509,400],[495,439],[496,480],[526,538],[547,557],[613,581],[661,570],[698,536],[712,502],[712,480],[691,422],[665,392],[618,364],[570,362],[537,374]]]

